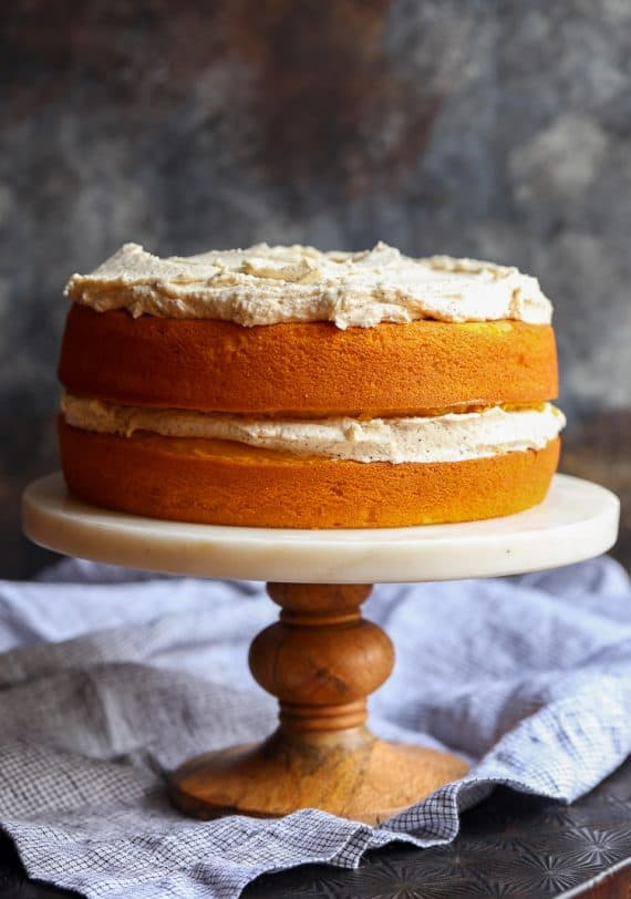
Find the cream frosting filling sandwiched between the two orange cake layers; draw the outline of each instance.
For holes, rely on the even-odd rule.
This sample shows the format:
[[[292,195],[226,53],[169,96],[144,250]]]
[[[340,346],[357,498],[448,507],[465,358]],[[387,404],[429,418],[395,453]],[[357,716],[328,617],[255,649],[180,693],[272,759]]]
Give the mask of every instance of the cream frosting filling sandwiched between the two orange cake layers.
[[[237,415],[124,406],[64,394],[62,412],[74,427],[130,436],[149,431],[172,437],[236,441],[298,456],[354,462],[462,462],[541,450],[566,424],[558,409],[448,413],[434,417],[254,421]]]

